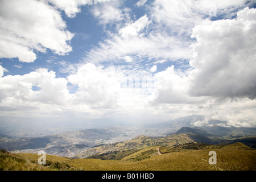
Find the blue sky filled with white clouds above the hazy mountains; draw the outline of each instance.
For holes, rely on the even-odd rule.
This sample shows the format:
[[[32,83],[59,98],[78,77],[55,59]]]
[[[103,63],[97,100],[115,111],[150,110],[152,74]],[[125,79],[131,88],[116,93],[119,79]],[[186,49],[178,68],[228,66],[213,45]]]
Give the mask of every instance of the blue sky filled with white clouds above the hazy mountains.
[[[256,127],[255,5],[0,0],[0,122],[198,114]]]

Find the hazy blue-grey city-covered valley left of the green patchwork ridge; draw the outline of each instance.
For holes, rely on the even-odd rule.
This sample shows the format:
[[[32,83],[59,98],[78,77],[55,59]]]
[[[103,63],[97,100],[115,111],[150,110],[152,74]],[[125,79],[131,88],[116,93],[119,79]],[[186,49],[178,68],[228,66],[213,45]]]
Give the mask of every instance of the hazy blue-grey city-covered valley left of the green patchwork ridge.
[[[39,150],[43,150],[47,154],[71,158],[79,154],[79,152],[94,146],[130,140],[139,134],[164,135],[155,129],[115,126],[104,129],[72,131],[44,137],[0,137],[0,150],[5,149],[15,153],[36,153]]]

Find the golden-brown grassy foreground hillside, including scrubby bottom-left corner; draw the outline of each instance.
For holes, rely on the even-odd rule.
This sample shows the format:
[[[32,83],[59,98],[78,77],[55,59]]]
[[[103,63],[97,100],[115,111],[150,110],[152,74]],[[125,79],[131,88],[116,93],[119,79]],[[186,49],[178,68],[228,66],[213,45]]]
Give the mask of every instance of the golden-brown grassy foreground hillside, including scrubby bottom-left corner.
[[[195,143],[194,143],[195,144]],[[156,146],[157,147],[157,146]],[[184,144],[174,148],[160,147],[162,155],[156,153],[156,147],[148,147],[128,155],[123,160],[69,159],[47,155],[46,166],[36,164],[37,154],[5,154],[0,152],[1,170],[110,170],[110,171],[255,171],[256,150],[242,143],[216,146],[210,144]],[[200,147],[194,149],[193,147]],[[209,151],[216,151],[217,164],[210,165]],[[143,158],[148,156],[147,158]],[[130,160],[131,156],[134,159]],[[19,159],[19,160],[16,160]],[[14,161],[16,160],[16,161]],[[9,163],[6,163],[8,161]],[[26,167],[24,167],[26,161]],[[15,165],[14,165],[15,164]],[[10,166],[15,166],[12,168]]]

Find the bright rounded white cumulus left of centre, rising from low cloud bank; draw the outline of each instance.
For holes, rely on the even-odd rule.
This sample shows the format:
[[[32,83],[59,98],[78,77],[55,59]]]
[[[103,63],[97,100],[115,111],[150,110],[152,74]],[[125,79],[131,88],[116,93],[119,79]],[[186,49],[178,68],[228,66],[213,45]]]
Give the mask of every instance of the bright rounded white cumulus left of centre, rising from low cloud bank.
[[[120,82],[112,74],[88,63],[79,68],[76,74],[68,76],[68,81],[78,86],[75,93],[77,102],[95,107],[114,107]]]

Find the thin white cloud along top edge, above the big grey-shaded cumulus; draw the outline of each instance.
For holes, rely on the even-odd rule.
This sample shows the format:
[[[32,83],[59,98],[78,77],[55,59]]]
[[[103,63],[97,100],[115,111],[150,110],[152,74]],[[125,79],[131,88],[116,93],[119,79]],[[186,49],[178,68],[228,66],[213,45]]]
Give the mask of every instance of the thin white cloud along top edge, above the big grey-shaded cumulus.
[[[236,15],[237,10],[242,7],[253,5],[253,1],[176,1],[176,0],[156,0],[150,7],[151,14],[154,15],[156,23],[162,28],[166,27],[169,32],[176,36],[191,35],[192,28],[197,24],[208,23],[208,19],[215,11],[216,16],[231,18]]]

